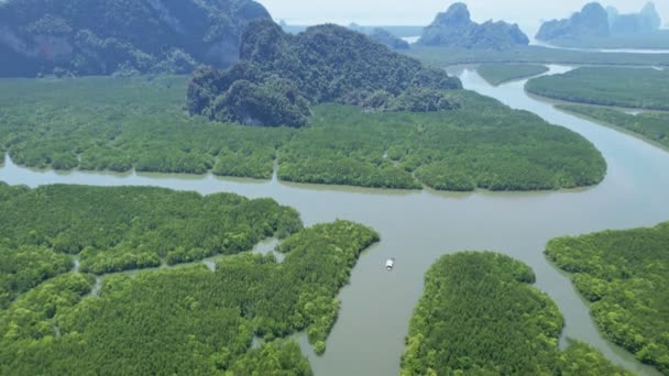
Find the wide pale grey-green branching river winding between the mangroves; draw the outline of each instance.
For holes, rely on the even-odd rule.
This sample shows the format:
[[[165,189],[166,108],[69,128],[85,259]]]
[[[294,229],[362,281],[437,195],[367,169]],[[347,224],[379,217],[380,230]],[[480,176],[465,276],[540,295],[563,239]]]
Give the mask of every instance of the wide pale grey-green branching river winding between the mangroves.
[[[564,70],[568,68],[552,66],[550,73]],[[669,168],[669,153],[560,112],[549,102],[527,96],[525,81],[494,88],[469,68],[453,73],[468,89],[535,112],[592,141],[608,164],[606,179],[597,187],[569,191],[440,193],[293,185],[276,178],[254,181],[211,175],[41,172],[19,167],[8,158],[0,167],[0,180],[31,187],[64,183],[160,186],[201,193],[229,191],[251,198],[272,197],[295,207],[308,225],[340,218],[373,226],[382,241],[361,256],[351,285],[340,294],[341,311],[327,353],[317,357],[307,351],[317,375],[396,375],[425,272],[439,256],[463,250],[497,251],[527,263],[537,274],[537,287],[564,314],[563,340],[583,340],[617,364],[644,375],[658,374],[597,332],[586,303],[568,276],[547,262],[542,251],[555,236],[669,220],[669,174],[663,173]],[[392,273],[384,268],[388,257],[396,258]]]

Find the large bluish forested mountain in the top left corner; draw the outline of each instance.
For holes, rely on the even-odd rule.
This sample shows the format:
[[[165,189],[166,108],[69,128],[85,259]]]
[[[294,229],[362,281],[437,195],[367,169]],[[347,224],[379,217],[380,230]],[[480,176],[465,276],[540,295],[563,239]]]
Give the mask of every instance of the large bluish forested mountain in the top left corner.
[[[0,2],[0,76],[189,73],[238,60],[252,0]]]

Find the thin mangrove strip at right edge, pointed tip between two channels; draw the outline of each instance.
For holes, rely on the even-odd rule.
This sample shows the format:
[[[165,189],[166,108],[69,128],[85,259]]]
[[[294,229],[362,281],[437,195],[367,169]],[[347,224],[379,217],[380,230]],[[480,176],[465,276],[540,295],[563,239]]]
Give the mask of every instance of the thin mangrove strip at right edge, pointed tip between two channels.
[[[629,114],[615,109],[579,104],[560,104],[558,108],[634,132],[644,139],[669,147],[669,113]]]

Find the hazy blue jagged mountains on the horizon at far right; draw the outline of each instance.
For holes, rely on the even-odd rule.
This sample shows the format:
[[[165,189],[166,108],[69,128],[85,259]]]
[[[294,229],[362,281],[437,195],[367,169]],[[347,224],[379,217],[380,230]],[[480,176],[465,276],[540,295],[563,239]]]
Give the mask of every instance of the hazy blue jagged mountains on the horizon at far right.
[[[660,25],[661,20],[652,2],[638,13],[629,14],[621,14],[613,7],[604,9],[599,2],[591,2],[568,19],[545,22],[536,37],[560,45],[589,38],[647,34],[658,31]]]

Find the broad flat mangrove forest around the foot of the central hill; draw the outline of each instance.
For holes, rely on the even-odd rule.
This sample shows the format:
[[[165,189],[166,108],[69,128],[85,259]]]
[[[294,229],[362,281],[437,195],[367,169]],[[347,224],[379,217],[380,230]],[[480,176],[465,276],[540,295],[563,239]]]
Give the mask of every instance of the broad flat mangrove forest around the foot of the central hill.
[[[189,117],[186,77],[6,79],[0,148],[19,165],[205,174],[379,188],[533,190],[594,185],[606,166],[582,136],[467,90],[457,109],[364,112],[319,104],[310,124]]]

